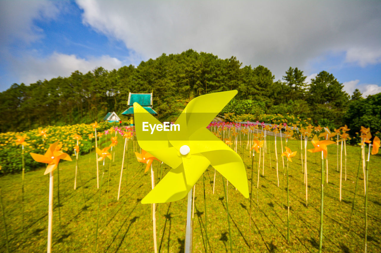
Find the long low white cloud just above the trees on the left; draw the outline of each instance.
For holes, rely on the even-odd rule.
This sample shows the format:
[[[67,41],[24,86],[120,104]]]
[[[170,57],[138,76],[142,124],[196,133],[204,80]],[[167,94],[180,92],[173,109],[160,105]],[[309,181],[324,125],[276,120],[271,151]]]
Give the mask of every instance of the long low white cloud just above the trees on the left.
[[[76,55],[54,52],[46,58],[38,58],[29,54],[21,59],[13,59],[12,65],[15,74],[19,75],[20,82],[31,84],[38,80],[49,80],[58,76],[70,76],[75,70],[87,73],[89,70],[100,66],[106,70],[112,70],[120,68],[122,62],[109,55],[92,57],[86,60],[78,58]]]

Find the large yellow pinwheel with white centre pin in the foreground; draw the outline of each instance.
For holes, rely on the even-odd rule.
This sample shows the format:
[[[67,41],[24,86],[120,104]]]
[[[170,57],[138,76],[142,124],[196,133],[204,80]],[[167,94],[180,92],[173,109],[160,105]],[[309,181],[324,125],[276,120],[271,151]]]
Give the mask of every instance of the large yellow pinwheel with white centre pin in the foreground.
[[[226,177],[243,196],[249,197],[242,159],[206,128],[236,94],[237,90],[231,90],[194,98],[179,115],[174,129],[171,129],[173,131],[158,131],[165,130],[166,126],[134,103],[139,145],[172,168],[142,199],[143,204],[184,198],[209,165]],[[156,124],[156,130],[152,134],[146,131],[143,122]]]

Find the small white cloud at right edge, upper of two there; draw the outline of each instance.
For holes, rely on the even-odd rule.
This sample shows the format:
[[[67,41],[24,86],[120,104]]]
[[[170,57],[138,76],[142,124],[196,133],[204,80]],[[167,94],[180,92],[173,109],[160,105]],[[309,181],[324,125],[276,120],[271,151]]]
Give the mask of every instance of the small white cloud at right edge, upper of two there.
[[[351,48],[346,52],[346,62],[354,62],[365,67],[381,62],[381,48]]]

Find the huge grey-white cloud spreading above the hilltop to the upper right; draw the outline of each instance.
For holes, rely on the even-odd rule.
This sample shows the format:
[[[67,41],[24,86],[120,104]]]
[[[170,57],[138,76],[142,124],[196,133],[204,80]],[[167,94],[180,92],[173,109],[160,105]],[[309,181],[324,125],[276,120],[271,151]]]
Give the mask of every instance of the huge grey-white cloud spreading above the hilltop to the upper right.
[[[381,45],[381,2],[374,1],[102,1],[77,0],[83,23],[122,40],[143,60],[192,48],[243,65],[308,69],[328,52]],[[373,50],[374,51],[374,50]],[[377,62],[376,58],[376,62]]]

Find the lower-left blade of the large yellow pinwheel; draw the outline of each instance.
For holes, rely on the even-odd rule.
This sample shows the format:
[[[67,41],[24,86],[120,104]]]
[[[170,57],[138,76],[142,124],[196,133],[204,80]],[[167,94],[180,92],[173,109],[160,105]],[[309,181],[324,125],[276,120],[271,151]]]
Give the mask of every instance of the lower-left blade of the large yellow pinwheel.
[[[202,155],[192,155],[191,159],[182,160],[183,163],[176,169],[171,169],[142,199],[142,204],[165,203],[184,198],[210,164]]]

